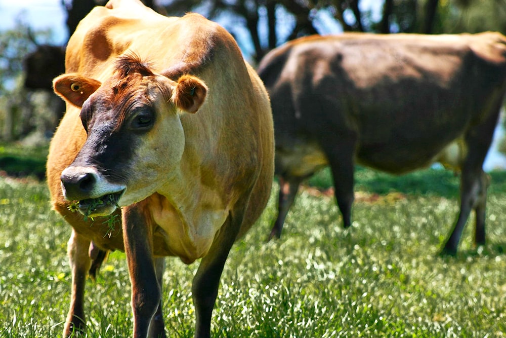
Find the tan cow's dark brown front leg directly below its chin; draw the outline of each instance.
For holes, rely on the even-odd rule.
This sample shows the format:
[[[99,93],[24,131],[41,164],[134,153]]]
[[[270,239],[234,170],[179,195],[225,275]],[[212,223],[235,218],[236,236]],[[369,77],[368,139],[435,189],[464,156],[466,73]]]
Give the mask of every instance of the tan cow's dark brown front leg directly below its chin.
[[[149,217],[138,204],[122,210],[123,241],[132,284],[134,338],[146,338],[160,303],[160,287],[154,267]]]

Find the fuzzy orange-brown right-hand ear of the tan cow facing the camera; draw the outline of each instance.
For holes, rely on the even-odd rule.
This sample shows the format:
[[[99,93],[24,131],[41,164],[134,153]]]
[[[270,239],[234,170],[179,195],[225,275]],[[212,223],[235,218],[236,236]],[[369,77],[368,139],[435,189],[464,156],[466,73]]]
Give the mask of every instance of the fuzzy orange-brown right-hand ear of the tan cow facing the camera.
[[[191,75],[183,75],[172,91],[172,102],[187,112],[196,112],[207,95],[207,86],[202,80]]]

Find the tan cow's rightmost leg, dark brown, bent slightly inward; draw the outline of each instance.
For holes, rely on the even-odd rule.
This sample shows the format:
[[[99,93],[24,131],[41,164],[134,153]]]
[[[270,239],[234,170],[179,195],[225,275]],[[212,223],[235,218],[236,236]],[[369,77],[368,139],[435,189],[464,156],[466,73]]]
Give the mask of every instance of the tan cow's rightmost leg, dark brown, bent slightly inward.
[[[238,202],[239,203],[239,202]],[[235,242],[244,218],[245,206],[230,211],[218,237],[205,255],[193,278],[192,296],[195,305],[195,338],[210,336],[211,317],[218,296],[220,277],[228,253]]]

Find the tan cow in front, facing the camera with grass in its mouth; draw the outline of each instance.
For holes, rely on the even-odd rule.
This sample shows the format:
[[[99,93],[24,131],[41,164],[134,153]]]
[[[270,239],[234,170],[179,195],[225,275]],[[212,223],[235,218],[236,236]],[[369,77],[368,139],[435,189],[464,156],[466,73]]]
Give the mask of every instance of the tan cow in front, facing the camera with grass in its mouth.
[[[72,35],[65,66],[54,89],[67,111],[47,165],[54,208],[73,228],[64,336],[85,323],[93,241],[126,253],[134,337],[165,336],[163,257],[201,258],[195,336],[208,337],[229,250],[271,191],[274,135],[262,82],[219,25],[197,14],[163,17],[138,0],[96,7]],[[121,224],[111,230],[107,215]]]

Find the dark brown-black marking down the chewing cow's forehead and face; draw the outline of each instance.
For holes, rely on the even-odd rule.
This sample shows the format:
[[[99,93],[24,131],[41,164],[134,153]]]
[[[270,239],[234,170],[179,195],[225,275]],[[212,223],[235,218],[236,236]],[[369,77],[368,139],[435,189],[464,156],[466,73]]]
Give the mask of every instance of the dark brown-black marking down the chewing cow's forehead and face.
[[[139,137],[156,121],[149,89],[154,74],[132,57],[116,62],[114,77],[83,104],[80,119],[88,137],[73,166],[93,166],[113,183],[126,181]]]

